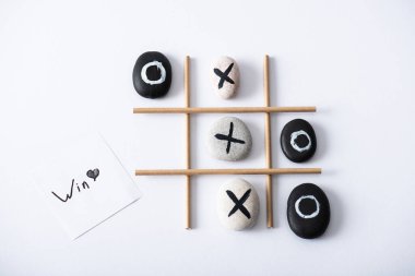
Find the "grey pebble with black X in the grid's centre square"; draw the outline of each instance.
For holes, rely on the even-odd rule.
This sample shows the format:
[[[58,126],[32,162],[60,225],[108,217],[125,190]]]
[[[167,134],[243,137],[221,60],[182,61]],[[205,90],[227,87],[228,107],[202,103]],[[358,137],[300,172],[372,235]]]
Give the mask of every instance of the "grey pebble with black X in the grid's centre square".
[[[211,155],[217,159],[240,160],[249,155],[252,136],[248,127],[240,119],[224,117],[212,125],[208,146]]]

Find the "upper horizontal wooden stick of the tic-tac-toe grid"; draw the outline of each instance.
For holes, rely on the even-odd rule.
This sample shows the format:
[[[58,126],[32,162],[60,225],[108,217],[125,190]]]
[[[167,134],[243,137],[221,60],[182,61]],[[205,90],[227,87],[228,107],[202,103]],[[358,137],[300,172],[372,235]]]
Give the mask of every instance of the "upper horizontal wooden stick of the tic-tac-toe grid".
[[[137,107],[133,113],[316,112],[316,107]]]

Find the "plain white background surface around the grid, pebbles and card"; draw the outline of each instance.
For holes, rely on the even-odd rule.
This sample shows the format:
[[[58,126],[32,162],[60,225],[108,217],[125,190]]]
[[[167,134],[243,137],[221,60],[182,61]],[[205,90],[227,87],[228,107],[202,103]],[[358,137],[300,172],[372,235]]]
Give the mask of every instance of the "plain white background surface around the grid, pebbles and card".
[[[415,4],[411,1],[1,1],[1,275],[414,275]],[[159,50],[173,86],[140,97],[135,59]],[[321,176],[274,177],[275,228],[265,227],[264,177],[247,176],[261,200],[249,231],[222,228],[215,195],[230,176],[193,178],[194,229],[185,230],[183,177],[134,178],[143,197],[71,241],[34,189],[29,170],[84,130],[102,130],[124,166],[182,168],[182,115],[132,115],[138,106],[182,106],[190,55],[193,106],[262,106],[262,59],[271,56],[272,105],[317,106],[273,115],[274,167],[321,167]],[[237,98],[212,93],[221,55],[241,72]],[[240,115],[253,134],[237,164],[206,154],[221,115],[192,117],[197,168],[264,167],[263,115]],[[278,135],[309,120],[318,151],[289,163]],[[60,142],[58,142],[60,141]],[[85,148],[85,153],[87,148]],[[80,156],[82,158],[82,156]],[[289,192],[315,182],[331,202],[316,240],[286,220]]]

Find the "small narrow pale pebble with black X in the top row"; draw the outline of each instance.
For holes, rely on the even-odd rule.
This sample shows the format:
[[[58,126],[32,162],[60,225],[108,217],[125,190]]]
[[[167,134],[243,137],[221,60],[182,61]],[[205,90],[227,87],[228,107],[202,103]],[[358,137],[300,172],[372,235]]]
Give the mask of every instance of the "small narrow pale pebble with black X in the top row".
[[[230,98],[239,87],[238,64],[233,58],[218,58],[212,64],[211,79],[213,87],[220,97],[224,99]]]

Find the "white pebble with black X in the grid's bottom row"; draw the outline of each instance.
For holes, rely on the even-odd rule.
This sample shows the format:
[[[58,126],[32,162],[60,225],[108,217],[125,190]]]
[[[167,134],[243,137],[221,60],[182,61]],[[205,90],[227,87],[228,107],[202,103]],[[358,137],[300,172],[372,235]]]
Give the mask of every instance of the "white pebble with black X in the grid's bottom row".
[[[230,230],[252,227],[258,219],[259,197],[248,181],[236,178],[221,185],[217,194],[217,216]]]

